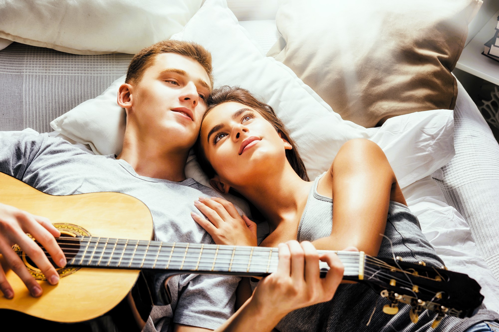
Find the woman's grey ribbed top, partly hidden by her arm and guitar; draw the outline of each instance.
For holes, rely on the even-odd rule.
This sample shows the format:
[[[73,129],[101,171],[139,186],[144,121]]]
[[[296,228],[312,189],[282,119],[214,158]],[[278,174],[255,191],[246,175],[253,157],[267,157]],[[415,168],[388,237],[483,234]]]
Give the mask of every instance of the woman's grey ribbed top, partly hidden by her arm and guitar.
[[[323,174],[322,174],[323,175]],[[298,225],[297,240],[314,241],[329,236],[332,229],[333,201],[317,192],[319,175],[310,189],[305,210]],[[444,263],[437,256],[427,241],[417,217],[409,208],[401,203],[390,201],[385,235],[393,243],[395,256],[403,257],[405,262],[425,261],[427,266],[442,267]],[[383,239],[378,253],[379,257],[392,257],[390,241]],[[251,287],[256,287],[251,282]],[[384,314],[382,308],[389,301],[381,298],[366,284],[342,284],[338,287],[334,298],[329,302],[302,308],[284,317],[276,329],[281,332],[298,331],[380,331],[380,332],[462,332],[482,321],[498,321],[499,315],[493,311],[480,310],[472,318],[444,318],[437,329],[431,329],[436,315],[425,311],[419,322],[413,324],[409,318],[410,306],[399,304],[396,315]],[[376,306],[369,326],[369,317]]]

